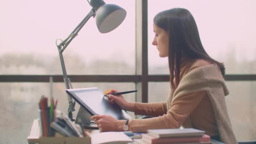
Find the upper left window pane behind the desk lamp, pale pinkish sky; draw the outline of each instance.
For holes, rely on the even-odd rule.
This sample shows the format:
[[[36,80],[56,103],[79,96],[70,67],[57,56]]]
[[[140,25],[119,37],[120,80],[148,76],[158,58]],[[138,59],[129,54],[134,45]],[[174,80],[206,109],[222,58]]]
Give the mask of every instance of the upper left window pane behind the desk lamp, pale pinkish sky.
[[[86,0],[15,3],[0,6],[0,74],[62,74],[55,41],[67,38],[91,6]],[[135,74],[135,0],[106,3],[124,8],[125,20],[101,34],[91,17],[63,52],[68,75]]]

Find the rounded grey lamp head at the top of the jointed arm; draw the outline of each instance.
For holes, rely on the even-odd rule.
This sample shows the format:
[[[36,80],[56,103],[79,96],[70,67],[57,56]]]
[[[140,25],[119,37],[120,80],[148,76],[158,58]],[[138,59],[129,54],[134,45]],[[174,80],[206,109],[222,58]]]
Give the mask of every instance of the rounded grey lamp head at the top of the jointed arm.
[[[90,3],[96,11],[96,25],[101,33],[114,30],[125,19],[126,11],[118,5],[106,4],[103,0],[91,0]]]

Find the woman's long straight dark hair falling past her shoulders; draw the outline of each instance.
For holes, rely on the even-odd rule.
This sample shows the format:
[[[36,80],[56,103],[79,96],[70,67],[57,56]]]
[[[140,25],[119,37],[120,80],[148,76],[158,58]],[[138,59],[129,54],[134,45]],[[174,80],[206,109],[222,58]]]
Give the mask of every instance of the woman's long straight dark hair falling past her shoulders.
[[[222,76],[225,75],[225,67],[212,59],[203,48],[197,25],[192,14],[184,8],[172,8],[158,13],[154,18],[154,24],[164,29],[169,35],[169,69],[171,86],[180,82],[181,56],[189,60],[204,59],[210,63],[219,65]]]

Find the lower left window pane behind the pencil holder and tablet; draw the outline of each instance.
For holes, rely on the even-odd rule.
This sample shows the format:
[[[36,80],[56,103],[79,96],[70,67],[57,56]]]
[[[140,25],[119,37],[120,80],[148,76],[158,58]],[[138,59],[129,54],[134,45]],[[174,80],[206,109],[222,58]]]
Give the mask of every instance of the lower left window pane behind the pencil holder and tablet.
[[[102,91],[115,88],[119,91],[135,89],[134,83],[72,83],[74,88],[98,87]],[[1,144],[27,144],[27,136],[34,119],[39,118],[38,102],[42,95],[50,95],[49,83],[0,83],[0,134]],[[135,93],[123,95],[127,101],[135,101]],[[57,109],[67,114],[68,100],[64,83],[53,83],[53,97],[58,99]],[[75,118],[79,110],[76,103]],[[133,112],[128,112],[134,118]],[[13,139],[13,136],[16,136]]]

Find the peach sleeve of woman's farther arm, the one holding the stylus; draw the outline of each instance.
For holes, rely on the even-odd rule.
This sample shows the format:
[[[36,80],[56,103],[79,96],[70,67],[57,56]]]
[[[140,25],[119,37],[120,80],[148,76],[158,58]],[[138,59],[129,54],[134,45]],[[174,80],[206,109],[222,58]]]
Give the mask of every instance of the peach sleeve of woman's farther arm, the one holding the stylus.
[[[166,114],[166,102],[156,103],[139,103],[134,104],[135,115],[148,115],[152,117],[158,117]]]

